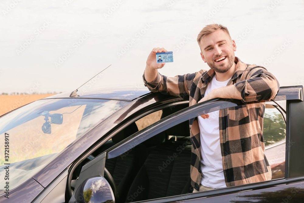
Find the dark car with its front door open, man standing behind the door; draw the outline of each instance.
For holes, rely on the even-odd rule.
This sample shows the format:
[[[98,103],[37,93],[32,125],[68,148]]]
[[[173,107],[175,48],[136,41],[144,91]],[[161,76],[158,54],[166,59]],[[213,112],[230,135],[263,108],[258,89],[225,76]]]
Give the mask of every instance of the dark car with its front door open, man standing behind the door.
[[[264,114],[272,180],[192,193],[189,119],[244,105],[188,101],[145,87],[50,96],[0,117],[0,202],[300,202],[303,87]]]

